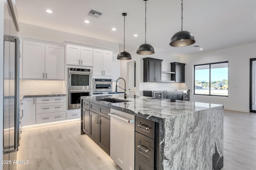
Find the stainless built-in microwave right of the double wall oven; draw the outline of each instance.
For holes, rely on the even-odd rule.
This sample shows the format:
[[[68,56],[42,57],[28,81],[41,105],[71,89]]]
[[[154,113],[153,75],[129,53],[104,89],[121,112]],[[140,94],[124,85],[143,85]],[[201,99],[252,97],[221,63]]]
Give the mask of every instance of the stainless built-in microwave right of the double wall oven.
[[[93,79],[93,92],[112,92],[112,79]]]

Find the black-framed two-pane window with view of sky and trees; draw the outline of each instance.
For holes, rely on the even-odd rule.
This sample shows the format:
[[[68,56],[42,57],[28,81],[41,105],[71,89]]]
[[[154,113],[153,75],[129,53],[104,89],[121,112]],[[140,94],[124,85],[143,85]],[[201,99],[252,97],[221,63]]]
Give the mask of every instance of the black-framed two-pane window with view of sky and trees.
[[[194,94],[228,96],[228,62],[194,65]]]

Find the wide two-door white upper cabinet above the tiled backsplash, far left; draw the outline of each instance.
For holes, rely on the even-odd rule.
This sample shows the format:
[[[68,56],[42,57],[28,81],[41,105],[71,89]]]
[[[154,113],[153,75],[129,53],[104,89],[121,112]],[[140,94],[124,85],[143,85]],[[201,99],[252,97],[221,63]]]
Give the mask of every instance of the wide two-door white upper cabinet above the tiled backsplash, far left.
[[[22,78],[64,80],[64,47],[23,41]]]

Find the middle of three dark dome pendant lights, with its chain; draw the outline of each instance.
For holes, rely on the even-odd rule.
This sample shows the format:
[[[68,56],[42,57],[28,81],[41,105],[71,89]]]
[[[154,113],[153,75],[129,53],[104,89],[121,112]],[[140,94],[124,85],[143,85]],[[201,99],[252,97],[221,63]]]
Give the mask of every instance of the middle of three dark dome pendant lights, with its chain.
[[[146,30],[147,30],[147,23],[146,23],[146,18],[147,18],[147,4],[146,4],[146,1],[147,0],[144,0],[145,1],[145,43],[140,45],[140,47],[138,47],[137,49],[137,54],[140,54],[140,55],[150,55],[150,54],[154,54],[155,53],[155,50],[154,48],[152,47],[152,45],[150,44],[147,44],[146,42]]]

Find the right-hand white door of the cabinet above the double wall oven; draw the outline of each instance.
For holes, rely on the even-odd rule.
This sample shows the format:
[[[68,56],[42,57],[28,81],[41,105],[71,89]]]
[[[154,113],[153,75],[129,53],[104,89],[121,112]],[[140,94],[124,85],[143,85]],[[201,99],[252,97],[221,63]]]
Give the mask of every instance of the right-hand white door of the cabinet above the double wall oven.
[[[81,47],[81,66],[93,65],[93,50],[86,47]]]

